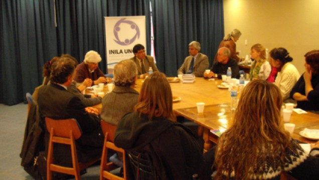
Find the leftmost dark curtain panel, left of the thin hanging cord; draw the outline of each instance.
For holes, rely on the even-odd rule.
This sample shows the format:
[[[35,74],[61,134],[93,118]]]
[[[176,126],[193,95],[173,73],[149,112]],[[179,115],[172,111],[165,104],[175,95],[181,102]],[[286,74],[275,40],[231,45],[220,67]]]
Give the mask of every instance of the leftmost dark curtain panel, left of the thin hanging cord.
[[[22,102],[41,84],[44,62],[57,55],[52,2],[0,1],[0,103]]]

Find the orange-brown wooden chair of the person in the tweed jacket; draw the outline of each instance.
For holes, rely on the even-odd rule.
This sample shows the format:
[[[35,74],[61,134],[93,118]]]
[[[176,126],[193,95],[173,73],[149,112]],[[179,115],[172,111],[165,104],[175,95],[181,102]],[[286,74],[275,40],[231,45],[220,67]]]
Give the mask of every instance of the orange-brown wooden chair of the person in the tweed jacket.
[[[107,122],[101,121],[101,127],[104,137],[104,146],[101,159],[101,168],[100,168],[100,180],[102,179],[111,179],[111,180],[123,180],[126,179],[126,168],[125,168],[125,151],[122,148],[116,147],[114,145],[114,134],[116,126],[109,124]],[[113,149],[116,152],[120,152],[123,155],[123,177],[116,174],[112,174],[110,171],[118,168],[113,162],[108,162],[107,151],[108,149]]]

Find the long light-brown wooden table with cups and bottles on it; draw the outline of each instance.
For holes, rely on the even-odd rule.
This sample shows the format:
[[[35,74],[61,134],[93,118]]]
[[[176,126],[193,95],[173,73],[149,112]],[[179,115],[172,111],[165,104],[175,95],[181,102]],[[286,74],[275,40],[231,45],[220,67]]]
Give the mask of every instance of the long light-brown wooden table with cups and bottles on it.
[[[177,116],[184,116],[203,127],[203,139],[205,141],[204,149],[208,150],[212,142],[217,143],[218,136],[210,132],[210,129],[227,129],[233,118],[234,111],[229,107],[231,98],[228,89],[219,89],[221,80],[208,80],[196,78],[194,83],[170,83],[173,96],[181,97],[179,102],[173,103],[173,109]],[[135,90],[138,92],[142,86],[143,80],[139,79]],[[106,87],[107,91],[107,87]],[[197,102],[205,102],[204,113],[197,113]],[[100,112],[102,105],[95,106]],[[303,138],[299,132],[305,127],[318,129],[319,115],[314,113],[297,114],[292,113],[291,123],[294,123],[295,130],[293,138],[305,142],[315,142]]]

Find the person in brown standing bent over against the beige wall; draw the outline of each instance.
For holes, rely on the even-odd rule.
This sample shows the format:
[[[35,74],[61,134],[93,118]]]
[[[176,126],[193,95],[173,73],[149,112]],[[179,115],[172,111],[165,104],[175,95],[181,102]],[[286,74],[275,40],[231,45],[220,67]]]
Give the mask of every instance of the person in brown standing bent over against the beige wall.
[[[234,29],[231,33],[226,35],[222,42],[219,44],[219,48],[226,47],[230,50],[230,58],[236,60],[237,62],[240,61],[240,58],[237,56],[236,52],[236,42],[239,40],[241,36],[241,32],[237,29]],[[217,63],[217,53],[214,59],[214,64]]]

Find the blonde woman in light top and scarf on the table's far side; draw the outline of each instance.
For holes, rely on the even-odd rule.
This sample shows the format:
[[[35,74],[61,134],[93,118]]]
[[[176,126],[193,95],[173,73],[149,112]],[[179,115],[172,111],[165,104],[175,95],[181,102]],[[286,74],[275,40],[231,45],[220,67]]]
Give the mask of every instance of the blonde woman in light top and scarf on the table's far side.
[[[266,51],[261,44],[255,44],[250,49],[251,59],[254,62],[251,65],[249,77],[253,79],[267,79],[270,72],[271,66],[266,60]]]

